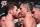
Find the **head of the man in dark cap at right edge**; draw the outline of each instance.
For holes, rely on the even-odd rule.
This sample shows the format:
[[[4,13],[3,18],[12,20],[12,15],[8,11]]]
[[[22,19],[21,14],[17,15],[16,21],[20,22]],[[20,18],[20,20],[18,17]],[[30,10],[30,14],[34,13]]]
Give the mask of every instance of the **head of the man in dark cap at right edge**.
[[[36,22],[40,22],[40,5],[36,4],[32,10],[33,17],[36,19]]]

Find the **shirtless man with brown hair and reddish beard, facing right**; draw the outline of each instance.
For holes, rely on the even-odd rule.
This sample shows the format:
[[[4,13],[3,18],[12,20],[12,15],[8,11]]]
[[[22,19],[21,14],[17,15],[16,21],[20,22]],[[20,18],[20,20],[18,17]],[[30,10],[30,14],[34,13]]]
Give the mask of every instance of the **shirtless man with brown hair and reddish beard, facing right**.
[[[15,24],[13,20],[15,18],[18,18],[18,9],[15,2],[8,3],[8,5],[5,7],[5,27],[15,27]]]

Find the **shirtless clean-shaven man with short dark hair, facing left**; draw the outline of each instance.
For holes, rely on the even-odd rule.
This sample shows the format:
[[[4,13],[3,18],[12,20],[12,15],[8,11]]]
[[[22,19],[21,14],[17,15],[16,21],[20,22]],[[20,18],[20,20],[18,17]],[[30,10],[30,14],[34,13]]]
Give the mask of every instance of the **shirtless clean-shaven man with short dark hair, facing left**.
[[[20,5],[21,14],[24,17],[24,27],[36,27],[36,22],[32,17],[32,5],[26,1]]]

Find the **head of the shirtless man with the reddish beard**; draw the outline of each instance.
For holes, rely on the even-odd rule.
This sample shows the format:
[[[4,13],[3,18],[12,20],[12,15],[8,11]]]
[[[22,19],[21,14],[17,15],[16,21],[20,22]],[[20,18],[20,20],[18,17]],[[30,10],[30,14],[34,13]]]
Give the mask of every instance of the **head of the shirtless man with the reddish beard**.
[[[6,7],[5,13],[10,13],[13,17],[18,17],[18,8],[15,2],[8,3]]]

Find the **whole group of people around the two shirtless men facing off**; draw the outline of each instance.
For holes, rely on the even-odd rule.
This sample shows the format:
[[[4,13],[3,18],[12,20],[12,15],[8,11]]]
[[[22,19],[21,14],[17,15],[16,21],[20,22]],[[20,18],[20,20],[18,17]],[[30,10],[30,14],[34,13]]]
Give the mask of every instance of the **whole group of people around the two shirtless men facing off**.
[[[16,23],[15,19],[18,19]],[[25,1],[17,5],[9,2],[5,6],[5,16],[1,17],[0,27],[40,27],[40,4],[33,6]]]

